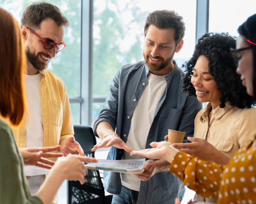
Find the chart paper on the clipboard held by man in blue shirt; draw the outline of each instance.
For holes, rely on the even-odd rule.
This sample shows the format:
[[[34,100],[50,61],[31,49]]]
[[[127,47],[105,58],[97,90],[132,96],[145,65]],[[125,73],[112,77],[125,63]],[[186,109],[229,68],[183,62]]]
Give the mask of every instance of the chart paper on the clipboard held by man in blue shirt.
[[[93,167],[96,169],[117,169],[124,171],[136,171],[143,169],[146,159],[123,159],[123,160],[108,160],[99,159],[97,163],[88,163],[85,166]]]

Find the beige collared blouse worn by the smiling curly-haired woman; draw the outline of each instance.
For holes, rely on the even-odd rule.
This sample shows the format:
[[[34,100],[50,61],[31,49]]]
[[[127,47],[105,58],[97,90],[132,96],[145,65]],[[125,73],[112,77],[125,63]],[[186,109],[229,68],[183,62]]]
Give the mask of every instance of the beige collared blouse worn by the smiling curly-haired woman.
[[[217,150],[230,158],[235,151],[245,145],[254,136],[256,108],[240,109],[226,102],[224,108],[212,111],[209,121],[211,103],[198,112],[194,121],[194,137],[205,139]],[[217,199],[194,197],[198,202],[217,203]]]

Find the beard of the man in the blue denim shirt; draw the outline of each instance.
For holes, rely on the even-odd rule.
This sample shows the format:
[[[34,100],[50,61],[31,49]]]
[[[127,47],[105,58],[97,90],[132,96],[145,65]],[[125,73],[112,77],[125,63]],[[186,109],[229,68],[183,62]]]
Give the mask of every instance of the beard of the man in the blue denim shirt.
[[[143,52],[143,57],[145,59],[146,66],[148,67],[149,71],[157,72],[157,71],[160,71],[160,70],[164,69],[165,67],[167,67],[172,62],[174,53],[175,53],[175,50],[172,53],[172,56],[170,56],[170,58],[168,58],[166,60],[164,60],[163,57],[152,57],[151,54],[146,55],[144,52]],[[157,64],[151,63],[149,61],[149,57],[151,57],[153,59],[161,59],[162,62],[161,63],[157,63]]]

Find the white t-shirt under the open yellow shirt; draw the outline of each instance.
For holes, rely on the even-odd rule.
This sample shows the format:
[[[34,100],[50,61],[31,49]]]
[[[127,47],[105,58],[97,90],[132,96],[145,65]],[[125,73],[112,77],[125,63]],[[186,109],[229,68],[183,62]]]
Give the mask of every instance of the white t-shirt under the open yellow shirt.
[[[26,147],[43,147],[43,114],[41,108],[39,85],[42,74],[23,75],[26,88],[26,102],[28,118],[26,119]],[[28,179],[31,194],[34,195],[43,181],[45,175],[31,176]]]

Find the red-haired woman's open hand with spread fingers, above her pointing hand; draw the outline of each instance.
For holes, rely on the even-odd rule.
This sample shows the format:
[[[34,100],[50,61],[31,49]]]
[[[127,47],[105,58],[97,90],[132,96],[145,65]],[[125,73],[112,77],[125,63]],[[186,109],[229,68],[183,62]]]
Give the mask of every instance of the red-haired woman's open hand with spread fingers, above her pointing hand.
[[[51,169],[50,165],[54,165],[54,161],[50,161],[46,158],[57,158],[62,157],[62,154],[52,153],[52,151],[59,150],[60,146],[55,147],[42,147],[42,148],[19,148],[21,152],[24,165],[34,165],[37,167],[43,167]]]

